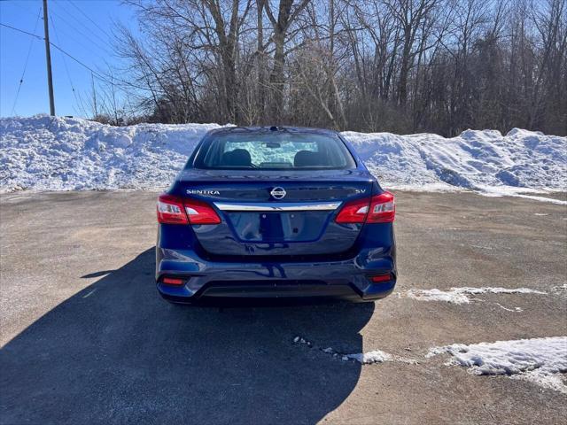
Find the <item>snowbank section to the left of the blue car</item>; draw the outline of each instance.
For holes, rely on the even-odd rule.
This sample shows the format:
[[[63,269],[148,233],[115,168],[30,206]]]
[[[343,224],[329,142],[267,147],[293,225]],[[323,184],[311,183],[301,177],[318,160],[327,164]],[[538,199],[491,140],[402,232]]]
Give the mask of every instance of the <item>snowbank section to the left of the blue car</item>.
[[[0,119],[0,190],[165,189],[216,124]]]

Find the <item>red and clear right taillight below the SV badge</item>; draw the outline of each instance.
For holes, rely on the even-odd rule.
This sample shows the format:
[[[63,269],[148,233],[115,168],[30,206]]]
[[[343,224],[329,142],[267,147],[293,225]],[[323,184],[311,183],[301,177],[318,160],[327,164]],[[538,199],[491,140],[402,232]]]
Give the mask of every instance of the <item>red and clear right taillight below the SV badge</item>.
[[[384,192],[347,202],[335,219],[338,223],[389,223],[394,220],[396,206],[392,193]]]

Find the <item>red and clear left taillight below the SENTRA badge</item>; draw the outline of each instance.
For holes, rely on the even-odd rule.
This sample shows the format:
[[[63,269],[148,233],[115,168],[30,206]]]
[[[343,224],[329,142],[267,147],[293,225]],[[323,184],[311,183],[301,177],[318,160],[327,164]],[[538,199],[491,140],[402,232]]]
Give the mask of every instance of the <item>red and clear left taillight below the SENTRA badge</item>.
[[[158,221],[164,224],[219,224],[221,218],[206,202],[161,195],[158,198]]]

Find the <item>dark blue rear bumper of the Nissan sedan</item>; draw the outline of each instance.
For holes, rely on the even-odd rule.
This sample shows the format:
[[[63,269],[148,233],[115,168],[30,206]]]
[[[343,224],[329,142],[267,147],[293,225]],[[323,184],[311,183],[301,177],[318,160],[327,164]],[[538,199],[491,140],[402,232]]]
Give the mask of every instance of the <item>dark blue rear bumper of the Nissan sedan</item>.
[[[218,262],[194,251],[156,248],[156,281],[163,298],[176,303],[221,298],[340,298],[371,301],[388,296],[396,283],[394,251],[372,258],[362,251],[353,259],[318,262]],[[370,277],[392,274],[387,282]],[[186,280],[180,286],[163,277]]]

